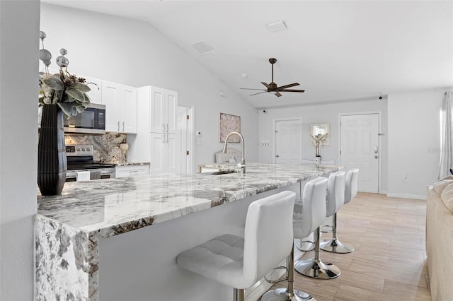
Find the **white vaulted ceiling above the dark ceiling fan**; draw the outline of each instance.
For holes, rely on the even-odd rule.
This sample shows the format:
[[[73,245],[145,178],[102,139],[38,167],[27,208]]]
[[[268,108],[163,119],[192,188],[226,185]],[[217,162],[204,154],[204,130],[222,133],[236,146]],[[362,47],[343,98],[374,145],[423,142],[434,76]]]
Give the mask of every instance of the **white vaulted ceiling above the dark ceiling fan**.
[[[145,20],[254,107],[453,87],[452,1],[43,2]],[[191,46],[201,41],[214,51]],[[305,93],[241,90],[270,83],[270,57],[275,83]]]

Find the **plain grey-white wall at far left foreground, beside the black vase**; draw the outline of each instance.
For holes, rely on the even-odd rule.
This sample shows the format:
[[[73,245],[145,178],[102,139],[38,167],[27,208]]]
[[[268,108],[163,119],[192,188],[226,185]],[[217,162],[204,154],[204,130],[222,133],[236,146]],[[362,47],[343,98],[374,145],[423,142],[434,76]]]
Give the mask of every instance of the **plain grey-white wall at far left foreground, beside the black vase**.
[[[0,1],[0,300],[33,300],[40,2]]]

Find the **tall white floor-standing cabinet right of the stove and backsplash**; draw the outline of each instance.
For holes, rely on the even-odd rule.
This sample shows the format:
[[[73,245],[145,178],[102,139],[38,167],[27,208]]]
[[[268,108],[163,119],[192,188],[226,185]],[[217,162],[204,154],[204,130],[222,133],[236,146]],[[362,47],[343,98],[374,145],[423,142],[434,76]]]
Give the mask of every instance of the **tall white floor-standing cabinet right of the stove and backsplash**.
[[[150,162],[150,172],[176,172],[176,106],[178,93],[146,86],[137,88],[137,136],[128,158]]]

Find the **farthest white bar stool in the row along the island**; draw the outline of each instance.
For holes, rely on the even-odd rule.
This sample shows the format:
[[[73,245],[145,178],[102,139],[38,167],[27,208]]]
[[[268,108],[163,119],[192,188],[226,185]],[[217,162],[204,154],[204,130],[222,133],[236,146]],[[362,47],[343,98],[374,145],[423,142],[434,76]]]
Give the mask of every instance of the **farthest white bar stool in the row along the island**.
[[[345,177],[345,197],[343,204],[349,203],[352,199],[357,196],[357,177],[359,175],[359,170],[354,168],[348,170]],[[338,208],[339,209],[339,208]],[[333,228],[332,228],[332,238],[330,240],[321,242],[321,249],[327,252],[333,253],[350,253],[354,252],[354,247],[352,245],[340,242],[337,237],[337,212],[333,214]]]

